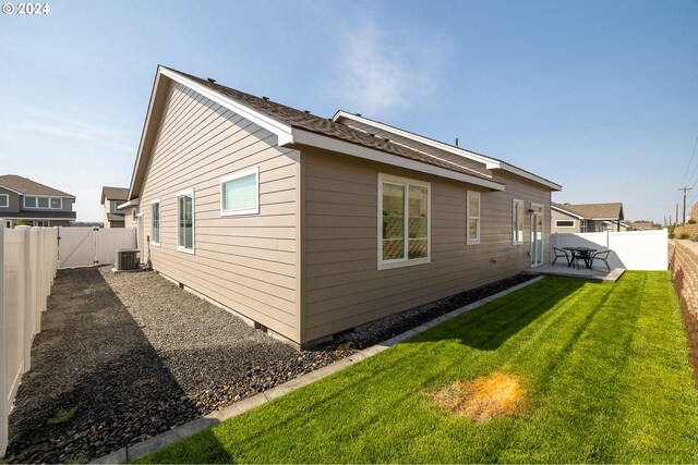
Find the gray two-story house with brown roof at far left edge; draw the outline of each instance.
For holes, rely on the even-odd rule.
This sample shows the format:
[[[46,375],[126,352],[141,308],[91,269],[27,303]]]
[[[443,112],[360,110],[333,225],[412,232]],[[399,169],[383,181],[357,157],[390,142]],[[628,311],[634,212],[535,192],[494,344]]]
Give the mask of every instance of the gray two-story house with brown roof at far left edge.
[[[75,221],[75,196],[16,174],[0,175],[0,218],[32,227],[68,227]]]

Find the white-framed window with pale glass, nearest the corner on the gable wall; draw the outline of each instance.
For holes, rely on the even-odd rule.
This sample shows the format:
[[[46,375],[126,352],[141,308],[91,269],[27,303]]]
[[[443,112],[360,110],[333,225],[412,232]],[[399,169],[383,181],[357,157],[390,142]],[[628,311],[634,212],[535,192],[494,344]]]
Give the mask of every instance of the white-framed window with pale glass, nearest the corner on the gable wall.
[[[220,215],[260,212],[260,168],[238,171],[220,180]]]

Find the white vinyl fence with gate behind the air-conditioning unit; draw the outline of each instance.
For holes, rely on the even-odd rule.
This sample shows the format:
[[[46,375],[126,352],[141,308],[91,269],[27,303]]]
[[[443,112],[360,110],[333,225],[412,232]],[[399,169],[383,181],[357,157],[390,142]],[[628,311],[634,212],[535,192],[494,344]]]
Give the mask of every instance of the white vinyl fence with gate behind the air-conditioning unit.
[[[117,261],[117,248],[136,248],[135,228],[59,228],[59,268]]]

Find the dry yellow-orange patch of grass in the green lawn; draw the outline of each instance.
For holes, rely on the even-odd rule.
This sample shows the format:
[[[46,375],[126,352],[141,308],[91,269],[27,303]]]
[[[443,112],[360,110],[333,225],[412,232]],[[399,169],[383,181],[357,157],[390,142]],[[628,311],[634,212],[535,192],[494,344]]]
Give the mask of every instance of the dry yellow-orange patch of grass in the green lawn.
[[[495,371],[472,381],[456,380],[430,395],[455,415],[485,423],[522,413],[527,392],[518,377]]]

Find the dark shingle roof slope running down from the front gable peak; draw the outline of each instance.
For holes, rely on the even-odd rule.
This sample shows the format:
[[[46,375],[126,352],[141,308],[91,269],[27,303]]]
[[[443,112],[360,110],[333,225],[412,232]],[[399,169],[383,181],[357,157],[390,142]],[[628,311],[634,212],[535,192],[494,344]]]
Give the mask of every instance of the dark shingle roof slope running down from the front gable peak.
[[[411,160],[421,161],[423,163],[433,164],[440,168],[445,168],[450,171],[473,175],[488,181],[492,180],[491,176],[484,173],[471,170],[469,168],[460,167],[455,163],[449,163],[448,161],[442,160],[436,157],[431,157],[417,150],[412,150],[408,147],[395,144],[382,137],[371,136],[370,134],[366,134],[362,131],[354,130],[341,123],[336,123],[332,121],[332,119],[316,117],[310,112],[300,111],[266,98],[256,97],[240,90],[232,89],[230,87],[222,86],[220,84],[212,83],[207,79],[202,79],[201,77],[192,76],[191,74],[186,74],[171,68],[167,69],[181,74],[182,76],[185,76],[196,82],[197,84],[201,84],[202,86],[208,87],[209,89],[215,90],[218,94],[230,97],[231,99],[244,106],[248,106],[253,110],[260,111],[270,118],[285,122],[286,124],[289,124],[293,127],[397,155],[399,157],[408,158]]]

